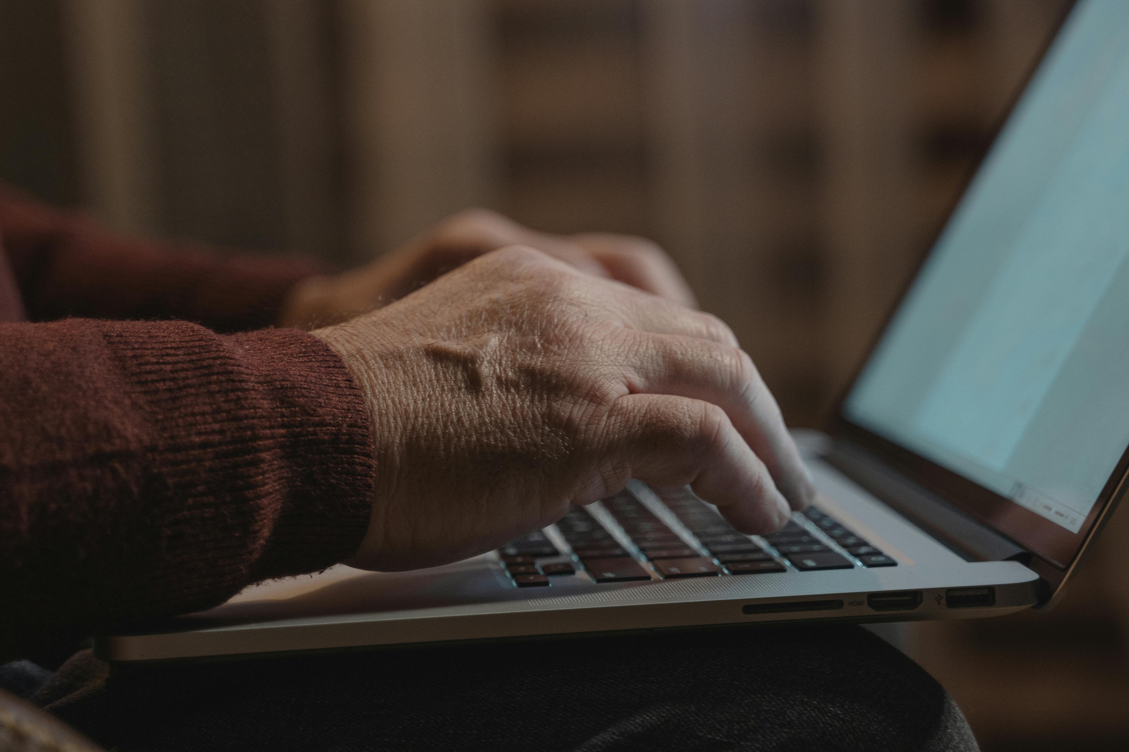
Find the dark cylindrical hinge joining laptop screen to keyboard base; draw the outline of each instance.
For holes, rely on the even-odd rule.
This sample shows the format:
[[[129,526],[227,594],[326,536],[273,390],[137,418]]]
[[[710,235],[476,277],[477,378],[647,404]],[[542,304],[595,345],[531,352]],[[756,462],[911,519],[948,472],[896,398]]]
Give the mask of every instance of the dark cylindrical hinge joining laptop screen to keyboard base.
[[[970,561],[1031,563],[1031,554],[969,517],[858,444],[835,439],[824,460]]]

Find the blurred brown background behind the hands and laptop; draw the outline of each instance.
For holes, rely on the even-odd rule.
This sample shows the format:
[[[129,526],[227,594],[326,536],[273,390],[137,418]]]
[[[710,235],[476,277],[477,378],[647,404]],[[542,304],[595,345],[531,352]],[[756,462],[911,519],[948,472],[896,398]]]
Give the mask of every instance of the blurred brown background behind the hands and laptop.
[[[482,205],[659,241],[819,426],[1062,0],[0,0],[0,179],[371,258]],[[988,751],[1129,743],[1129,512],[1064,604],[912,629]]]

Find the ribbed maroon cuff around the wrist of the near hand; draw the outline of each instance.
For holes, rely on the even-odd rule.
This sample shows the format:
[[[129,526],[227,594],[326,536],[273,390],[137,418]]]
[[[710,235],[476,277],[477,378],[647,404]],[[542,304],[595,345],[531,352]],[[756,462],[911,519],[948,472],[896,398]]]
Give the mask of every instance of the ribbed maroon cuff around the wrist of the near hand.
[[[189,601],[230,594],[357,549],[371,434],[330,347],[297,329],[220,336],[181,322],[133,322],[105,338],[155,428],[145,489],[161,537],[154,587],[184,587]]]

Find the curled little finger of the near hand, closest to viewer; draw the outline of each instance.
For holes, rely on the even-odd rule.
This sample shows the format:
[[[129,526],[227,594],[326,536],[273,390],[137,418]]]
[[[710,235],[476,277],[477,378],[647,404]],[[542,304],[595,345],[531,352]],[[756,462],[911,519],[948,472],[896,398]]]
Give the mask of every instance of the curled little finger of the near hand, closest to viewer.
[[[671,395],[628,395],[612,406],[611,445],[630,477],[686,486],[746,533],[769,533],[791,510],[768,469],[716,405]]]

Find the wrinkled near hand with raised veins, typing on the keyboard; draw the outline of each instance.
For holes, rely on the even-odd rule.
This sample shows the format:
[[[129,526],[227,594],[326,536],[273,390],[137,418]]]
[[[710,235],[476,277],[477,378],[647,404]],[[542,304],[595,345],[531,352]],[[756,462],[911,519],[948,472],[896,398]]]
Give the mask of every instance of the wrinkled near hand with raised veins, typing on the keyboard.
[[[779,529],[814,495],[719,319],[531,248],[487,254],[314,335],[356,379],[376,445],[352,566],[481,554],[631,478],[689,484],[750,533]]]

